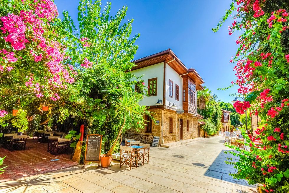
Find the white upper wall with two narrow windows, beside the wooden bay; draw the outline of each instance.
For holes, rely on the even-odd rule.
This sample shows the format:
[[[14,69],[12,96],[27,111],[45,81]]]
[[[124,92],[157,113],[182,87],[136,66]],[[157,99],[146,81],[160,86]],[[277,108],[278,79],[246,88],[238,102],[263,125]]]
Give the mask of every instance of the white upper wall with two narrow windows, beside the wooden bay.
[[[177,108],[183,108],[183,82],[182,78],[179,76],[175,70],[170,67],[168,64],[166,64],[166,86],[165,86],[165,97],[166,97],[166,105],[168,106],[169,103],[175,102],[176,105],[178,105]],[[173,89],[174,89],[174,96],[173,98],[169,97],[169,80],[174,82]],[[179,86],[179,101],[175,99],[175,85]],[[172,106],[172,104],[170,104]],[[175,108],[176,109],[176,108]]]

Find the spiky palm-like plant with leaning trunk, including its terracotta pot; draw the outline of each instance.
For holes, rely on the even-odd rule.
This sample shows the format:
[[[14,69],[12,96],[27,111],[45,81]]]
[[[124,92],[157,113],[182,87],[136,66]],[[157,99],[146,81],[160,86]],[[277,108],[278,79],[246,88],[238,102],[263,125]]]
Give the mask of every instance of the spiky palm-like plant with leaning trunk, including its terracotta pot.
[[[101,163],[101,167],[103,168],[107,168],[111,164],[112,152],[114,150],[117,140],[119,139],[121,135],[122,129],[124,128],[124,125],[126,124],[126,120],[130,117],[133,117],[135,114],[139,114],[139,112],[137,111],[137,107],[139,107],[139,104],[136,102],[135,98],[131,96],[130,93],[124,93],[122,97],[119,98],[118,101],[113,100],[111,107],[115,108],[114,118],[122,121],[122,124],[121,124],[121,127],[119,128],[114,144],[112,145],[108,153],[102,154],[100,156],[100,163]]]

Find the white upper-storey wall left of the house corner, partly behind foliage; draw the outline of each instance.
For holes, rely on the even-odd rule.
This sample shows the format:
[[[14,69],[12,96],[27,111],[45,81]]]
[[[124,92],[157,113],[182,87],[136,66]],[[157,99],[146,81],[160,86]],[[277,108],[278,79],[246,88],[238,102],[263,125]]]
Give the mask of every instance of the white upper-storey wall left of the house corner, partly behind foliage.
[[[157,103],[157,100],[163,100],[163,88],[164,88],[164,63],[154,64],[141,69],[131,71],[137,77],[141,77],[144,80],[144,85],[148,86],[148,80],[157,77],[157,95],[156,96],[144,96],[144,99],[139,102],[139,105],[153,106]],[[136,79],[132,79],[136,80]],[[134,88],[134,85],[132,85]],[[163,101],[162,101],[163,103]]]

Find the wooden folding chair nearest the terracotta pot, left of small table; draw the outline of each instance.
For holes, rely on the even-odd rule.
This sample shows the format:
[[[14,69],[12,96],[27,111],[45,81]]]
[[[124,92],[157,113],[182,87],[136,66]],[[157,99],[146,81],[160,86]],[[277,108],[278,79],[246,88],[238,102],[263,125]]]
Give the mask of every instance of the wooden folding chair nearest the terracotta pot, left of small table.
[[[129,170],[132,169],[132,164],[137,168],[137,160],[139,157],[139,150],[133,150],[132,147],[120,146],[120,159],[119,167],[122,165],[129,166]]]

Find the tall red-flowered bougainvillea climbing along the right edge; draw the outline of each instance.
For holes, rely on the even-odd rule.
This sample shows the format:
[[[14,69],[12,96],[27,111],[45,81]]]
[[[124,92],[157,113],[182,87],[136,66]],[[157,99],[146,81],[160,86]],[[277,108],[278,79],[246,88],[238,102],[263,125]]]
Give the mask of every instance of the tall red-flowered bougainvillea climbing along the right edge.
[[[289,1],[235,0],[216,29],[231,15],[229,35],[242,35],[231,62],[244,102],[234,104],[240,114],[251,110],[262,120],[255,137],[257,148],[245,136],[252,151],[236,148],[239,161],[233,176],[262,186],[265,192],[289,192]]]

